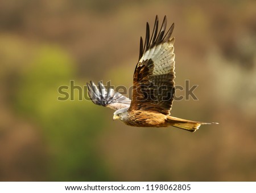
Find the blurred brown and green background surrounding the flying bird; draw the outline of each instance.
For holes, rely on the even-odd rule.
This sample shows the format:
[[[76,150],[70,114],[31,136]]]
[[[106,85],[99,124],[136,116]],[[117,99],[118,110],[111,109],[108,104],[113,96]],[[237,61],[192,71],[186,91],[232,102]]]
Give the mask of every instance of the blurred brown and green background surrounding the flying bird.
[[[155,15],[175,23],[176,85],[199,85],[172,115],[220,125],[129,127],[77,90],[57,100],[71,80],[130,87]],[[0,180],[256,181],[255,53],[255,1],[1,1]]]

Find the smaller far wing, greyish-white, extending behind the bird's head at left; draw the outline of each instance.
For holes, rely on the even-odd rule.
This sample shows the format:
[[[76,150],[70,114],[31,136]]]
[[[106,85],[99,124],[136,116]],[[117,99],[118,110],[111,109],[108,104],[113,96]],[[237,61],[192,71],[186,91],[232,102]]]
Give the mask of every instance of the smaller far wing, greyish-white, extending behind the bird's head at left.
[[[121,95],[119,92],[115,92],[113,88],[106,89],[101,82],[98,83],[98,87],[92,81],[87,83],[88,94],[94,104],[115,110],[130,106],[130,98]]]

